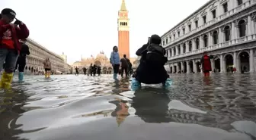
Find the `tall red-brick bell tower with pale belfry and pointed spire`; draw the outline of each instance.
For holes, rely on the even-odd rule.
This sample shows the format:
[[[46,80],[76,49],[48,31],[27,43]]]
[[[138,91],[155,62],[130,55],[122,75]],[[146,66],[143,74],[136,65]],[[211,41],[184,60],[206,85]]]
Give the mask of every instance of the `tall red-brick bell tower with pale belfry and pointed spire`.
[[[126,58],[130,58],[130,33],[129,33],[129,18],[128,11],[126,10],[126,4],[122,0],[120,11],[118,11],[118,48],[120,57],[123,58],[123,54],[126,54]]]

